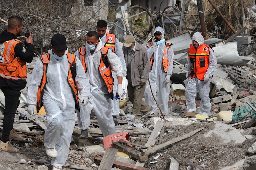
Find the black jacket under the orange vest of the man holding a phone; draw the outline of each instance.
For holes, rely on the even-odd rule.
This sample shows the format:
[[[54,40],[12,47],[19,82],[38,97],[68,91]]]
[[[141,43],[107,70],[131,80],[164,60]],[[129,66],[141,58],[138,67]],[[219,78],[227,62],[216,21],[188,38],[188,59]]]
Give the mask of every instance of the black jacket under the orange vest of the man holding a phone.
[[[2,31],[2,33],[0,34],[0,43],[4,43],[5,41],[12,39],[17,39],[16,35],[7,32],[6,30]],[[34,57],[33,44],[29,43],[25,52],[22,51],[24,47],[25,46],[23,43],[18,43],[14,48],[15,55],[20,57],[21,60],[27,63],[31,63]],[[10,87],[14,90],[24,89],[26,83],[26,80],[10,80],[0,77],[0,86]]]

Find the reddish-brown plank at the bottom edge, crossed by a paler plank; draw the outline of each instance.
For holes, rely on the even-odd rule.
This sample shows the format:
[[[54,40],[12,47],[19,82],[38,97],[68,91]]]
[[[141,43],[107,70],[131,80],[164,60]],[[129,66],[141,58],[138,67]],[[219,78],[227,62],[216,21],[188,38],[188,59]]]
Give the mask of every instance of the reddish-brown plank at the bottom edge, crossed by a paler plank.
[[[101,157],[99,158],[95,158],[94,162],[96,164],[100,164],[101,161]],[[127,164],[124,162],[120,162],[120,161],[114,161],[113,166],[115,166],[116,168],[122,169],[122,170],[149,170],[148,168],[144,168],[144,167],[140,167],[140,166],[136,166],[136,165],[132,165],[132,164]]]

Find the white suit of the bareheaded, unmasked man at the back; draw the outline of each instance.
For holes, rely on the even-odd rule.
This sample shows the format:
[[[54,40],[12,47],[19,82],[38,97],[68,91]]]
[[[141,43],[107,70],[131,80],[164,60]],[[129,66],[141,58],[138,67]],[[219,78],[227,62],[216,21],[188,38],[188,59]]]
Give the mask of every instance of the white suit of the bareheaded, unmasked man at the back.
[[[105,42],[107,40],[107,33],[109,33],[109,30],[107,28],[106,32],[105,32],[105,35],[103,35],[100,40],[102,42],[102,45],[104,47],[105,45]],[[109,48],[110,49],[110,48]],[[112,50],[112,49],[110,49]],[[120,42],[118,41],[118,39],[116,38],[115,39],[115,54],[119,57],[119,59],[121,60],[121,63],[122,63],[122,67],[123,67],[123,70],[126,72],[126,64],[125,64],[125,60],[124,60],[124,53],[123,53],[123,50],[122,50],[122,46],[120,44]],[[112,76],[114,78],[114,85],[113,85],[113,93],[114,93],[114,96],[116,95],[116,91],[117,91],[117,78],[116,78],[116,73],[114,71],[112,71]],[[112,115],[113,116],[118,116],[119,115],[119,100],[112,100]]]

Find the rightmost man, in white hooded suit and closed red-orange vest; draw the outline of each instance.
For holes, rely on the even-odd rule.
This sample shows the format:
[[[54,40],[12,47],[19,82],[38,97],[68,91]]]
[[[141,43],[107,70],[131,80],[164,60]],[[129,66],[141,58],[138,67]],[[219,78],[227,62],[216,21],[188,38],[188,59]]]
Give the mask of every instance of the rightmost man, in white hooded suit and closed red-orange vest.
[[[187,113],[183,115],[188,117],[196,115],[195,97],[197,92],[199,92],[201,98],[200,114],[210,115],[210,83],[213,71],[217,67],[217,60],[212,48],[204,44],[204,37],[200,32],[194,33],[192,37],[187,60],[186,77],[188,85],[185,91]]]

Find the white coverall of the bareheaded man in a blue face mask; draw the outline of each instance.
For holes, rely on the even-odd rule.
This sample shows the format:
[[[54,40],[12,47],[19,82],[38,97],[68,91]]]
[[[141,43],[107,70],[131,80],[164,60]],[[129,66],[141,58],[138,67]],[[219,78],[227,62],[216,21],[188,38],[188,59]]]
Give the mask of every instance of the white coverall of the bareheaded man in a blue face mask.
[[[102,42],[100,40],[93,55],[91,55],[89,49],[86,49],[86,76],[89,78],[91,95],[87,105],[80,105],[80,113],[77,114],[77,118],[78,128],[85,130],[90,125],[91,112],[94,113],[103,136],[107,136],[116,133],[116,129],[111,111],[112,99],[109,97],[107,86],[98,69],[101,60],[101,48]],[[77,50],[75,54],[79,55],[79,51]],[[120,59],[110,49],[108,49],[107,57],[108,63],[116,75],[125,77],[126,71],[123,70]]]

